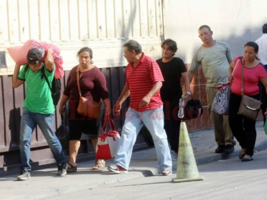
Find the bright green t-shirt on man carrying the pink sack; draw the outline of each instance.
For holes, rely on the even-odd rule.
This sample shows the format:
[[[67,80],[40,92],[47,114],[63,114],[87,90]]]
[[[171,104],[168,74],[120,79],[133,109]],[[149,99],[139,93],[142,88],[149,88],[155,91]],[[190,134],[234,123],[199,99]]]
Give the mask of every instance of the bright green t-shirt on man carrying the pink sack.
[[[28,68],[25,73],[25,67],[26,65],[23,66],[18,74],[18,79],[26,81],[26,98],[23,108],[33,113],[53,113],[55,111],[55,106],[53,105],[51,91],[45,78],[42,78],[41,69],[34,72],[31,68]],[[45,75],[51,85],[55,73],[55,66],[52,72],[45,68],[45,64],[43,64],[42,67],[44,67]]]

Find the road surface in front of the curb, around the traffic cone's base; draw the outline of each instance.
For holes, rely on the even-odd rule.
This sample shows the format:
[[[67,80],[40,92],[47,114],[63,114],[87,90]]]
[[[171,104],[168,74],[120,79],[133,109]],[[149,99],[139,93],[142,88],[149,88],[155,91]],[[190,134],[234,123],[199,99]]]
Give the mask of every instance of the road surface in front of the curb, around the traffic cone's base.
[[[172,183],[175,174],[143,177],[54,199],[266,199],[266,168],[267,151],[261,151],[255,153],[250,162],[241,162],[235,157],[200,165],[203,181]]]

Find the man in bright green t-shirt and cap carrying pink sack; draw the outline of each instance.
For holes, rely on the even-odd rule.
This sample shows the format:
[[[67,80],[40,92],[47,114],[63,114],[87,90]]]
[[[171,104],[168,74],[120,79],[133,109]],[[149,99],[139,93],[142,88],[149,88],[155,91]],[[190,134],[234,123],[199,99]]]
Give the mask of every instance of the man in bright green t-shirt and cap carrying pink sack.
[[[61,144],[56,137],[54,129],[53,99],[48,83],[42,74],[42,68],[49,84],[55,73],[53,50],[47,50],[45,63],[42,62],[45,50],[41,47],[33,47],[27,54],[28,64],[24,65],[20,71],[20,65],[16,64],[12,84],[14,88],[19,87],[26,81],[26,98],[23,104],[23,113],[20,122],[20,175],[17,180],[26,180],[30,177],[31,166],[30,142],[31,135],[38,125],[56,159],[58,165],[58,175],[67,174],[67,163]]]

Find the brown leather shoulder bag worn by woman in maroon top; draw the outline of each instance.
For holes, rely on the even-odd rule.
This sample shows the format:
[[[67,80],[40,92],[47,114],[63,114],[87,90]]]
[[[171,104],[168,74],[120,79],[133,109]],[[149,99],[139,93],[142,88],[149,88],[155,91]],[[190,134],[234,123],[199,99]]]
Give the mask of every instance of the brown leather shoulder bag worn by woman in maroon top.
[[[95,102],[94,100],[86,99],[85,97],[82,97],[82,93],[80,89],[79,71],[80,69],[78,66],[76,73],[77,73],[77,86],[78,86],[78,91],[80,95],[80,101],[79,101],[77,113],[97,119],[100,116],[101,101]]]

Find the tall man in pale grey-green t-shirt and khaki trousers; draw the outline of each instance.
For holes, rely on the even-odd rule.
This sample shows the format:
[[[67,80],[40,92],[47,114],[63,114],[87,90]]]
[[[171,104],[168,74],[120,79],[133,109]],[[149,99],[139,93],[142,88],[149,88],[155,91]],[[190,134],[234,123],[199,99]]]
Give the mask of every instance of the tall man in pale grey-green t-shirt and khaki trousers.
[[[229,126],[228,115],[219,115],[211,112],[214,97],[218,92],[217,87],[228,82],[228,68],[233,61],[231,50],[228,44],[213,40],[213,32],[209,26],[200,26],[198,33],[203,44],[194,53],[188,69],[189,82],[192,81],[194,72],[201,65],[204,76],[207,79],[206,95],[208,111],[213,121],[215,140],[218,144],[215,152],[233,153],[236,142],[233,140],[234,137]]]

